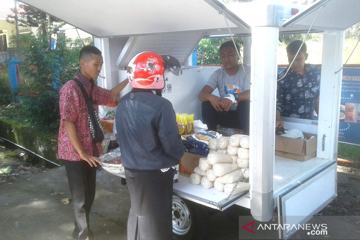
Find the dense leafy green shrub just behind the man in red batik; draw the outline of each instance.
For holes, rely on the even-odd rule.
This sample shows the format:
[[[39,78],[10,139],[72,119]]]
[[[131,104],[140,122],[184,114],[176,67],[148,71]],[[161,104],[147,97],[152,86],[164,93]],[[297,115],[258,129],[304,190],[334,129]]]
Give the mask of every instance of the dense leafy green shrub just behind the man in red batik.
[[[22,82],[19,85],[24,115],[42,131],[56,132],[59,128],[59,90],[78,70],[82,44],[68,39],[50,50],[47,35],[30,35],[29,44],[22,47]],[[93,39],[85,39],[93,44]],[[26,79],[25,81],[23,81]],[[56,85],[56,87],[55,87]]]

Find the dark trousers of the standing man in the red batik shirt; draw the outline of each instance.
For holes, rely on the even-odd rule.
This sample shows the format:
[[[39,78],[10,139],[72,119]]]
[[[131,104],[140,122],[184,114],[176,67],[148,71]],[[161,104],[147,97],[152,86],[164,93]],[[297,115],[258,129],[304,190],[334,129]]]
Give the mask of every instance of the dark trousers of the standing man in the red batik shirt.
[[[74,233],[78,232],[78,239],[94,239],[89,213],[95,198],[96,167],[90,167],[84,160],[63,162],[73,198],[76,219]]]

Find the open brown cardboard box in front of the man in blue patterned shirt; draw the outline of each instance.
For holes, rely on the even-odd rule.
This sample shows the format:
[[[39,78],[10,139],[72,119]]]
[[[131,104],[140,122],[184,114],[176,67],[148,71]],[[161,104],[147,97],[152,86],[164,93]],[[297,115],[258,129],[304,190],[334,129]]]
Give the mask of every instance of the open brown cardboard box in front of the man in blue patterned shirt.
[[[299,161],[306,161],[316,157],[318,137],[316,134],[303,133],[305,140],[289,137],[275,136],[275,155],[291,158]],[[314,136],[313,138],[311,138]]]

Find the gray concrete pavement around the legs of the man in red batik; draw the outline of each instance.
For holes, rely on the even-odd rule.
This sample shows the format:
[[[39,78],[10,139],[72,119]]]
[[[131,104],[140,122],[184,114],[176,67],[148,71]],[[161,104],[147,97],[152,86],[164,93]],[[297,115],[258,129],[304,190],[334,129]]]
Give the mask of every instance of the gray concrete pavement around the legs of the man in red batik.
[[[120,178],[98,171],[96,196],[90,214],[91,228],[99,240],[126,239],[129,192]],[[63,194],[60,194],[63,193]],[[23,175],[0,186],[0,239],[72,239],[72,202],[64,167]]]

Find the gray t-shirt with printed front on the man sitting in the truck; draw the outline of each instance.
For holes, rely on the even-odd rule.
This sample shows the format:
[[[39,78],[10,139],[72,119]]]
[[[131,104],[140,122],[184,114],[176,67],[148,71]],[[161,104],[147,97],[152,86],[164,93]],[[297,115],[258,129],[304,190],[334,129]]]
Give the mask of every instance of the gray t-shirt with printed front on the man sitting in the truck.
[[[246,90],[250,90],[250,66],[243,64],[244,69],[239,64],[239,70],[234,75],[226,73],[225,68],[217,69],[213,72],[207,81],[206,85],[209,85],[212,89],[218,89],[220,98],[224,98],[229,93],[242,93]],[[236,110],[237,103],[231,105],[230,110]]]

